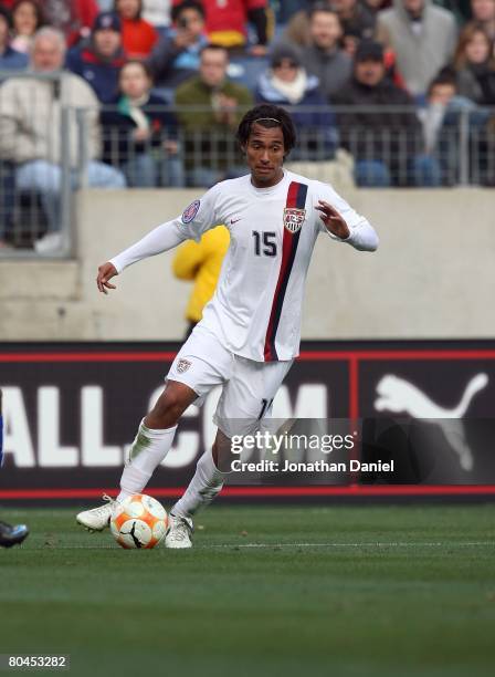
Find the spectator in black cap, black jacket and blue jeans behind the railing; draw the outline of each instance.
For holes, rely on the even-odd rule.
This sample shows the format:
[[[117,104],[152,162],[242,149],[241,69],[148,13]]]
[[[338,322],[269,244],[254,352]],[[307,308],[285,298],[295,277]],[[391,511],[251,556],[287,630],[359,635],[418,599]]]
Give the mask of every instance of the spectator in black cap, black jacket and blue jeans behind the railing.
[[[386,74],[383,48],[362,41],[356,51],[354,77],[336,97],[341,106],[399,107],[396,112],[352,111],[338,114],[340,142],[354,156],[358,186],[438,185],[436,166],[422,152],[421,125],[412,100]]]

